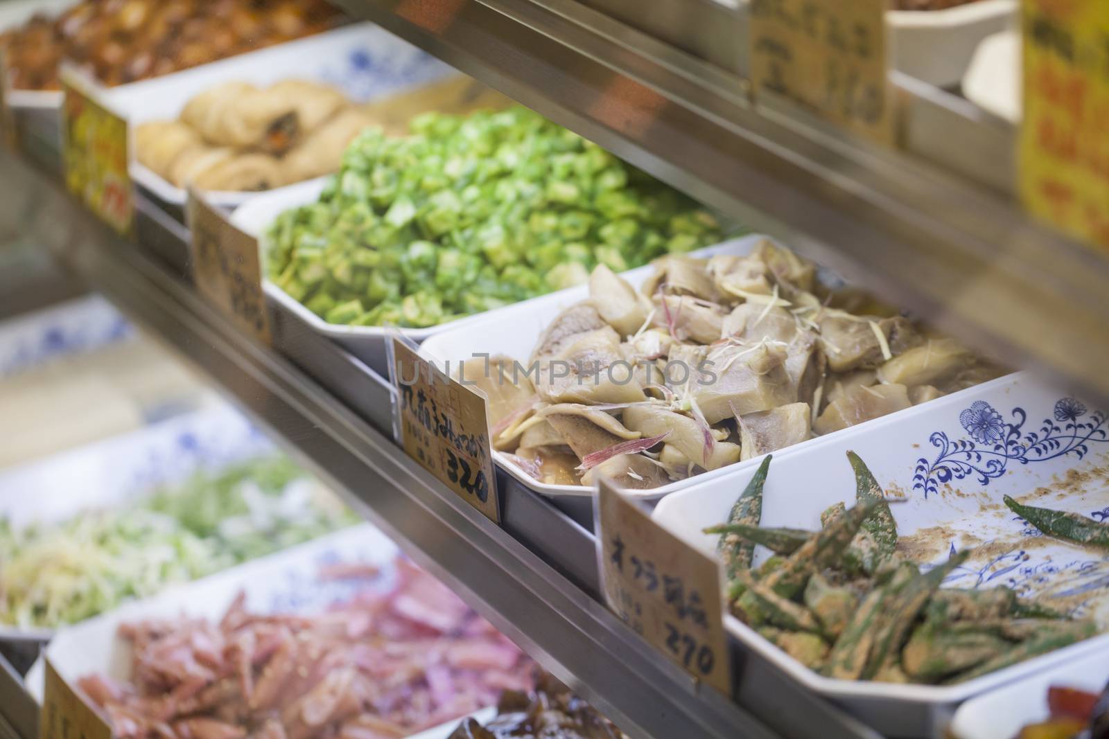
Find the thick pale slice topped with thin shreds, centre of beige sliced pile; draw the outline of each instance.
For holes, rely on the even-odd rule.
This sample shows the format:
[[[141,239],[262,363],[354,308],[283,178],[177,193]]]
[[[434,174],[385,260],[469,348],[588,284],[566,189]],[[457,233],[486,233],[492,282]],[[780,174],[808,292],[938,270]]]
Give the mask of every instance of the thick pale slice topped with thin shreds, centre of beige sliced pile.
[[[714,350],[708,357],[709,372],[694,372],[690,379],[693,401],[709,423],[796,402],[784,348],[766,343]]]

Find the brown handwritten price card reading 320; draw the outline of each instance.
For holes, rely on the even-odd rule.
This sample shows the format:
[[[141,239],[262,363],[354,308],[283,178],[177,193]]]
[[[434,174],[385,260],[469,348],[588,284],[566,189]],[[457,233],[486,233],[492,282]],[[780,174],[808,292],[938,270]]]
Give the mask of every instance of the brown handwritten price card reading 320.
[[[408,456],[500,523],[485,398],[393,338],[400,440]]]

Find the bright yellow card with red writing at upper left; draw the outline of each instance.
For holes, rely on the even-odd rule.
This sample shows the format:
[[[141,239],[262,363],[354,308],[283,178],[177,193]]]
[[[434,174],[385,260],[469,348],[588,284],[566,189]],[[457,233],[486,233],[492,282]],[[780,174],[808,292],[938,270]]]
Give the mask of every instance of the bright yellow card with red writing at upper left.
[[[128,122],[100,101],[93,83],[64,64],[61,83],[65,184],[104,223],[129,234],[134,188],[128,171]]]

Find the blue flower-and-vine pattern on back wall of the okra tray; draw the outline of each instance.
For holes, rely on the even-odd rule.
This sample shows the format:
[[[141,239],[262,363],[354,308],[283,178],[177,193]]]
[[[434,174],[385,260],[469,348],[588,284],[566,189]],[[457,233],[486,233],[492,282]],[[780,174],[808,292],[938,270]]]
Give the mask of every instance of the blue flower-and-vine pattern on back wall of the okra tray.
[[[977,478],[983,485],[1005,474],[1009,462],[1028,464],[1067,454],[1082,459],[1090,444],[1109,442],[1106,414],[1089,412],[1075,398],[1061,398],[1055,403],[1052,418],[1046,418],[1035,431],[1025,431],[1028,413],[1014,408],[1013,421],[993,406],[977,400],[959,413],[959,424],[969,439],[952,439],[943,431],[934,432],[928,441],[939,450],[934,460],[920,458],[913,475],[913,490],[924,496],[935,494],[939,485],[952,480]],[[1109,515],[1109,513],[1107,513]]]

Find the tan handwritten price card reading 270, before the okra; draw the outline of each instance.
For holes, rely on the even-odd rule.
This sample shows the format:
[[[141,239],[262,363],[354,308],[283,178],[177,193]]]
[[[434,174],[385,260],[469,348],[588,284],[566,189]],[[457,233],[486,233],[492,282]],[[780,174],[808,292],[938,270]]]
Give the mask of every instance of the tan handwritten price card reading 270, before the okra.
[[[597,495],[609,608],[694,679],[731,696],[720,566],[651,521],[607,480]]]

